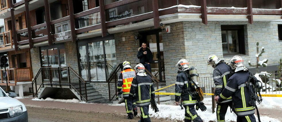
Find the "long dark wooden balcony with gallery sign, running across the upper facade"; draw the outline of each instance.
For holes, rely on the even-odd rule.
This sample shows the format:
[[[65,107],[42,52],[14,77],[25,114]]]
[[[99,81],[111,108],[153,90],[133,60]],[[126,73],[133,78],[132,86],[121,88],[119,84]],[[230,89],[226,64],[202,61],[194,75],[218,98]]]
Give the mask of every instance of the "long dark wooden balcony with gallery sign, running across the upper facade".
[[[159,23],[162,21],[159,17],[174,13],[199,14],[197,21],[202,20],[204,24],[208,23],[207,18],[211,15],[242,15],[242,18],[248,20],[249,23],[253,23],[253,16],[258,17],[257,15],[271,15],[275,16],[274,19],[282,15],[282,10],[279,9],[281,8],[280,0],[275,0],[275,2],[264,0],[193,0],[190,2],[184,0],[178,0],[178,2],[176,0],[120,0],[113,3],[105,3],[104,0],[100,0],[100,7],[76,14],[73,14],[72,1],[68,0],[68,2],[71,2],[69,4],[70,16],[53,21],[46,20],[46,23],[16,31],[18,39],[15,47],[16,45],[31,42],[34,44],[46,40],[49,44],[61,43],[74,40],[78,34],[97,31],[101,32],[104,37],[110,28],[148,19],[153,19],[155,28],[159,28]],[[24,1],[20,1],[15,3],[14,6],[18,7],[23,4]],[[49,12],[45,13],[46,15],[49,14]],[[264,17],[264,19],[269,19],[266,16]],[[212,21],[215,21],[217,18],[212,19]],[[49,25],[51,28],[48,28]],[[68,25],[68,28],[65,28],[64,25]],[[64,28],[64,30],[58,31],[57,27]],[[28,38],[29,36],[32,38]],[[32,48],[32,44],[30,47]]]

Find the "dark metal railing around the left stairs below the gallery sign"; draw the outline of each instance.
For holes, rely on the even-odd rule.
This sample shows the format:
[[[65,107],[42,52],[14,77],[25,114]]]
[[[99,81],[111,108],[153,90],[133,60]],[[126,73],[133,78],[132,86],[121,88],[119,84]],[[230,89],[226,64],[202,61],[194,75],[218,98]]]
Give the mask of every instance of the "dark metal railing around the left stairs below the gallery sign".
[[[40,68],[32,82],[33,97],[38,96],[40,88],[44,85],[69,86],[80,95],[80,100],[87,101],[86,82],[71,67]]]

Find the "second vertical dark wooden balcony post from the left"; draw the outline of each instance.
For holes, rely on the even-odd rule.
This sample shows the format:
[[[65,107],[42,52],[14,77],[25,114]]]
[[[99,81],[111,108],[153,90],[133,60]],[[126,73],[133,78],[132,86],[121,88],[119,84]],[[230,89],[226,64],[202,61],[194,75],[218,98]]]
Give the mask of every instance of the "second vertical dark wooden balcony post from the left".
[[[31,36],[31,19],[30,19],[30,13],[29,13],[29,3],[28,0],[24,0],[24,6],[25,6],[25,15],[26,15],[26,26],[27,26],[27,34],[28,34],[28,42],[29,42],[29,48],[33,48],[33,42],[32,42],[32,36]]]

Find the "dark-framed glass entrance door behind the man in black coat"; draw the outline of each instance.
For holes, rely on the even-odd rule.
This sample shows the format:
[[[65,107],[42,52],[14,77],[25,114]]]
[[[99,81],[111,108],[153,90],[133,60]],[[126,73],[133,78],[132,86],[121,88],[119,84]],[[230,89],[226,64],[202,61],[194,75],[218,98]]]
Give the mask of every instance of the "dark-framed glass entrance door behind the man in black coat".
[[[163,36],[161,30],[141,32],[140,46],[143,42],[147,43],[153,53],[153,62],[151,63],[152,75],[165,82],[164,62],[163,62]]]

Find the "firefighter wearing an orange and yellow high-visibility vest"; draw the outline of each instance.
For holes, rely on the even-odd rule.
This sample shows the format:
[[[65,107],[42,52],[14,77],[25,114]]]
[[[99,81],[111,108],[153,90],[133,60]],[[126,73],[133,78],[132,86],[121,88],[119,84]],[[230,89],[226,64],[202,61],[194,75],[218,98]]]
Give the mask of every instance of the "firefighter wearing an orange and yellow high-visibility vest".
[[[135,71],[131,69],[130,63],[128,61],[123,62],[123,71],[119,75],[117,90],[121,91],[117,94],[122,94],[125,100],[125,109],[128,114],[128,119],[133,119],[132,109],[134,116],[137,115],[137,106],[134,99],[129,99],[129,91],[133,78],[135,77]]]

